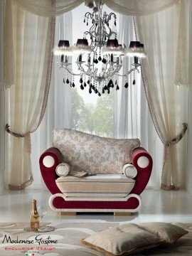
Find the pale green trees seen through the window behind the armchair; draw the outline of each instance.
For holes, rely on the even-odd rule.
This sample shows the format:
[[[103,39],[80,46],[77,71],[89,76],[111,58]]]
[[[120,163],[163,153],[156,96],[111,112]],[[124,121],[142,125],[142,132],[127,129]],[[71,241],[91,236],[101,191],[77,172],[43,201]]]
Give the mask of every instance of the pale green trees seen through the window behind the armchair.
[[[114,92],[97,98],[96,106],[85,104],[76,88],[72,89],[71,127],[102,137],[114,137]]]

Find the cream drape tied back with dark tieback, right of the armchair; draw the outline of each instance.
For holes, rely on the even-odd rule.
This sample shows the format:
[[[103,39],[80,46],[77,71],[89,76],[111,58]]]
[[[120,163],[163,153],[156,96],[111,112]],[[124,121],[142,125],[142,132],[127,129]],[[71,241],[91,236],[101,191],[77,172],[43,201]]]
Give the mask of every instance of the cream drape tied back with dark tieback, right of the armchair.
[[[142,60],[144,89],[156,132],[164,144],[161,188],[167,190],[182,187],[185,177],[185,145],[179,141],[187,129],[184,111],[187,90],[185,86],[174,83],[176,62],[180,60],[176,58],[178,47],[181,46],[179,26],[181,22],[184,23],[180,20],[181,11],[185,17],[183,4],[184,1],[181,1],[181,4],[171,6],[158,14],[135,18],[137,35],[144,42],[147,52],[147,58]],[[187,81],[183,74],[186,75],[186,72],[182,73],[181,80]],[[176,145],[178,142],[179,146]]]

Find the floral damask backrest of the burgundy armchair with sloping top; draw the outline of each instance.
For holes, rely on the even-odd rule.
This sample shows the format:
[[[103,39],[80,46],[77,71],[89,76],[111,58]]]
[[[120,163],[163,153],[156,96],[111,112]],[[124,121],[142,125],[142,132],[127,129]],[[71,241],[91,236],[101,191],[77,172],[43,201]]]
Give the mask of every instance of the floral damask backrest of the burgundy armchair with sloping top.
[[[92,174],[122,174],[122,166],[131,163],[131,154],[139,139],[109,139],[72,129],[53,129],[53,146],[58,148],[71,171]]]

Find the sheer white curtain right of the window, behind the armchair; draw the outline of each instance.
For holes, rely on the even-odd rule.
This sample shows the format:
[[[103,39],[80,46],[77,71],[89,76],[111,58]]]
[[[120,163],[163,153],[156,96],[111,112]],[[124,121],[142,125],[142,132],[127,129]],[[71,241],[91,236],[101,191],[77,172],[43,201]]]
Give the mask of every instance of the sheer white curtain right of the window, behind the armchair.
[[[119,16],[119,43],[129,43],[134,38],[132,16]],[[123,73],[129,69],[132,63],[128,58],[124,58]],[[141,146],[149,151],[154,166],[148,187],[160,188],[161,166],[163,163],[163,149],[161,140],[156,134],[154,125],[151,121],[149,107],[141,80],[141,73],[136,74],[136,85],[132,85],[133,76],[129,79],[122,78],[120,90],[114,97],[114,126],[117,138],[139,138]],[[125,82],[129,82],[128,89],[124,88]]]

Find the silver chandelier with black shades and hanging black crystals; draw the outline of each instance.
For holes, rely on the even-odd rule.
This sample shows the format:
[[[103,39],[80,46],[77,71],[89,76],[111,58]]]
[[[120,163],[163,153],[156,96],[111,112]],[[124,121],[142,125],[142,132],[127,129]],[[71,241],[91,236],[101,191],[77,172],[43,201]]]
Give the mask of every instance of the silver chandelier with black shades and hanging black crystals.
[[[110,93],[112,88],[119,90],[119,77],[125,77],[124,87],[128,87],[128,75],[134,73],[132,83],[135,84],[135,72],[139,73],[139,58],[145,58],[144,45],[139,41],[131,41],[129,48],[117,41],[117,33],[112,31],[110,25],[116,26],[116,15],[114,13],[102,13],[102,1],[98,6],[94,6],[94,1],[90,1],[93,7],[92,14],[87,12],[84,16],[84,23],[89,26],[89,31],[85,31],[83,38],[78,39],[75,46],[70,47],[69,41],[60,40],[58,47],[53,49],[53,53],[58,55],[60,69],[64,69],[70,74],[69,78],[63,78],[63,82],[75,87],[75,76],[80,77],[80,88],[89,87],[89,92],[95,92],[101,96],[105,92]],[[88,43],[90,41],[90,44]],[[76,64],[79,73],[73,73],[69,56],[78,53]],[[127,73],[120,74],[122,68],[122,58],[133,57],[134,63]]]

